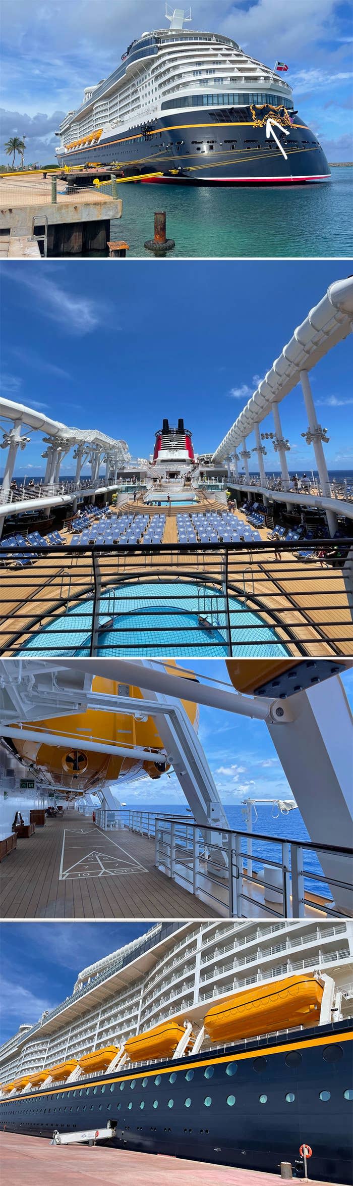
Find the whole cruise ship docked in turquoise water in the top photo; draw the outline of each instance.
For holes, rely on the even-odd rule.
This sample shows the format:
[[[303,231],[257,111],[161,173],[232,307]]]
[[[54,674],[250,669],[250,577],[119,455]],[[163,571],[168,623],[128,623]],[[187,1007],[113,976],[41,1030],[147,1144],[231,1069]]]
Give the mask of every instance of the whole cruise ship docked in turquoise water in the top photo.
[[[184,28],[191,17],[181,8],[166,17],[169,28],[133,40],[121,65],[68,113],[56,133],[59,165],[110,165],[188,185],[327,181],[325,152],[283,78],[287,64],[271,70],[230,37]]]

